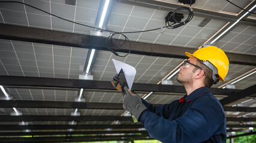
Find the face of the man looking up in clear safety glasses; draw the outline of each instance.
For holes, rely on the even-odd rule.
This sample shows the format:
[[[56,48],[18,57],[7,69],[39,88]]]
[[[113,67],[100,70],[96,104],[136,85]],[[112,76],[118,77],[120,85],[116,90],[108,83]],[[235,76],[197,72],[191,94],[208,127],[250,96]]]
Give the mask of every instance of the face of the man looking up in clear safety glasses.
[[[197,58],[195,57],[190,57],[188,59],[188,61],[192,64],[196,64],[196,61],[197,61]],[[180,71],[179,71],[179,74],[177,76],[177,81],[179,83],[181,83],[182,85],[185,85],[185,84],[192,84],[193,82],[193,75],[194,75],[194,72],[193,70],[195,69],[194,66],[190,65],[189,63],[183,66],[180,67]]]

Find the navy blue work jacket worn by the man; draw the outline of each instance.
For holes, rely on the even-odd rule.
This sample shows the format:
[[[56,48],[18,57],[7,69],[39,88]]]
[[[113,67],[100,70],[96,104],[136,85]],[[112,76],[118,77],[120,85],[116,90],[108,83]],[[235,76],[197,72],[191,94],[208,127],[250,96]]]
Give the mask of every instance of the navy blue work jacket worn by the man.
[[[140,116],[152,138],[170,142],[226,142],[226,118],[221,103],[206,86],[180,100],[153,106]]]

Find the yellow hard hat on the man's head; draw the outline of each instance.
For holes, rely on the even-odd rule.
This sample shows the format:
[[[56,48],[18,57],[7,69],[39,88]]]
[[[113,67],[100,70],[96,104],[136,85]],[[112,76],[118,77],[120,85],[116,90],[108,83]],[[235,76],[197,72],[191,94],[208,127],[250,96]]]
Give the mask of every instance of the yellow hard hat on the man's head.
[[[227,55],[224,51],[222,51],[222,49],[219,49],[215,46],[207,46],[198,49],[193,54],[190,54],[188,52],[185,52],[185,54],[189,58],[191,56],[194,56],[198,60],[203,61],[203,64],[206,64],[206,62],[209,61],[209,63],[216,67],[216,70],[218,70],[219,80],[221,80],[222,82],[225,81],[224,78],[227,76],[228,73],[229,61]],[[206,66],[212,70],[214,69],[209,66],[209,64],[206,64]],[[214,70],[212,74],[214,74]]]

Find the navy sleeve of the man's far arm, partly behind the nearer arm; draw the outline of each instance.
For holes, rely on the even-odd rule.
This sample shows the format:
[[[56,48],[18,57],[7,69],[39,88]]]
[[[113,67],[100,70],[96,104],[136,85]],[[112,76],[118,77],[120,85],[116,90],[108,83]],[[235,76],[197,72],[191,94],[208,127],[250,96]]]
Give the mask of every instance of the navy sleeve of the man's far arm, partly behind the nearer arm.
[[[171,104],[165,104],[165,105],[160,105],[160,106],[153,106],[152,104],[150,104],[149,102],[147,102],[146,100],[142,100],[142,103],[147,107],[147,109],[153,113],[155,113],[158,116],[163,116],[165,119],[168,119],[168,117],[170,116],[171,113]]]

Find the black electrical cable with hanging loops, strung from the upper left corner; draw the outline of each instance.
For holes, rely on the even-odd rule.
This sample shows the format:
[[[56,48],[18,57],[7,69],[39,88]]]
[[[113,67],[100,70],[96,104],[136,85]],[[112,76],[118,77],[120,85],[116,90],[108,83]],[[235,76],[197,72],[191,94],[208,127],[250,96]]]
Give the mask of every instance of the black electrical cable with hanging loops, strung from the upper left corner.
[[[69,22],[71,22],[71,23],[79,24],[79,25],[81,25],[81,26],[91,27],[91,28],[93,28],[93,29],[98,29],[98,30],[101,30],[101,31],[111,32],[111,33],[113,33],[113,34],[110,35],[109,38],[107,38],[106,44],[109,45],[109,39],[110,39],[110,42],[112,42],[112,45],[114,45],[114,46],[122,46],[122,45],[125,44],[125,42],[127,42],[127,41],[129,42],[129,39],[127,38],[127,36],[124,35],[124,33],[149,32],[149,31],[153,31],[153,30],[163,29],[163,28],[165,28],[165,27],[167,27],[168,29],[176,29],[177,27],[180,27],[180,26],[185,25],[186,23],[188,23],[189,21],[191,21],[192,18],[193,18],[193,12],[192,12],[189,8],[180,7],[180,8],[177,8],[177,9],[173,12],[173,14],[170,15],[170,17],[168,17],[168,20],[170,20],[170,18],[173,17],[173,20],[175,21],[175,23],[179,23],[179,24],[176,24],[176,25],[174,25],[174,26],[173,26],[173,24],[175,24],[175,23],[173,23],[173,24],[169,24],[169,23],[168,23],[168,25],[167,25],[167,23],[165,23],[165,26],[164,26],[164,27],[159,27],[159,28],[156,28],[156,29],[141,30],[141,31],[134,31],[134,32],[115,32],[115,31],[112,31],[112,30],[100,29],[100,28],[98,28],[98,27],[88,26],[88,25],[82,24],[82,23],[77,23],[77,22],[75,22],[75,21],[71,21],[71,20],[68,20],[68,19],[66,19],[66,18],[59,17],[58,15],[48,13],[47,11],[41,10],[40,8],[34,7],[34,6],[32,6],[32,5],[25,4],[24,2],[17,2],[17,1],[0,1],[0,2],[8,2],[8,3],[23,4],[23,5],[26,5],[26,6],[28,6],[28,7],[35,8],[36,10],[43,11],[44,13],[47,13],[47,14],[52,15],[52,16],[55,16],[55,17],[60,18],[60,19],[62,19],[62,20],[69,21]],[[190,6],[191,6],[191,5],[190,5]],[[175,15],[175,13],[177,13],[178,11],[182,11],[182,10],[188,11],[188,13],[189,13],[189,14],[188,14],[188,18],[186,18],[185,21],[177,21],[177,20],[174,18],[174,15]],[[125,42],[122,43],[122,45],[116,45],[116,43],[113,43],[113,39],[112,39],[112,38],[113,38],[113,35],[116,35],[116,34],[120,34],[120,35],[124,36]],[[130,46],[129,52],[131,52],[131,42],[129,42],[129,46]],[[109,47],[108,47],[108,48],[109,48]],[[113,54],[115,54],[115,55],[117,55],[117,56],[119,56],[119,57],[126,57],[126,56],[129,54],[129,52],[128,52],[127,55],[119,55],[119,54],[118,54],[115,50],[113,50],[112,48],[110,48],[110,51],[112,51]]]

